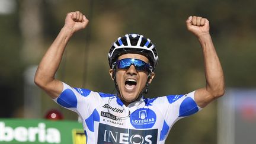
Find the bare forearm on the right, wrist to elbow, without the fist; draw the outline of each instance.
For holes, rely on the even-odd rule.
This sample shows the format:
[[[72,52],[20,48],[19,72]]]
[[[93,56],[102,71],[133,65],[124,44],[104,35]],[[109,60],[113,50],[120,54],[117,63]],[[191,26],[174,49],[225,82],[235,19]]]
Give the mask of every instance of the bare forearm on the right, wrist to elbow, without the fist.
[[[199,37],[203,50],[204,68],[206,76],[206,90],[217,98],[224,94],[225,81],[222,66],[217,56],[210,34]]]

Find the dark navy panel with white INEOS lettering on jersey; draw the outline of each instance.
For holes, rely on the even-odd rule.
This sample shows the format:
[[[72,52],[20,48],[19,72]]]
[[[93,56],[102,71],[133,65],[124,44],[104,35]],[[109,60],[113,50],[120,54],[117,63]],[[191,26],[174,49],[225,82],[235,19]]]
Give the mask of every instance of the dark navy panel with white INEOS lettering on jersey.
[[[99,124],[98,144],[156,144],[158,129],[134,130]]]

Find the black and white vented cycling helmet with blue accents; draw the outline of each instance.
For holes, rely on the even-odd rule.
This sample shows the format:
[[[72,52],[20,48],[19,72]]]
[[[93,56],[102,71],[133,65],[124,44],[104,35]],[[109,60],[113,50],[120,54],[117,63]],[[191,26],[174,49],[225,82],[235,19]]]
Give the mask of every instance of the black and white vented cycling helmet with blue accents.
[[[155,70],[158,63],[158,53],[156,52],[154,44],[151,40],[146,39],[140,34],[126,34],[124,37],[119,37],[113,43],[108,53],[108,63],[113,69],[117,58],[126,53],[138,53],[148,57],[152,66],[152,71]]]

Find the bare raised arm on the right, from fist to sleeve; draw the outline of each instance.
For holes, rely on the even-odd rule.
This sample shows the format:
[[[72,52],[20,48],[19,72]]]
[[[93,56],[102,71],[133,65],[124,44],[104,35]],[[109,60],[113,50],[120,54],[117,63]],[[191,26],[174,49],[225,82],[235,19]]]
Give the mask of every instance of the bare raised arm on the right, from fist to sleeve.
[[[206,18],[193,16],[188,17],[186,24],[188,31],[199,39],[203,50],[206,87],[197,89],[194,95],[197,105],[203,108],[224,94],[224,75],[210,36],[209,21]]]

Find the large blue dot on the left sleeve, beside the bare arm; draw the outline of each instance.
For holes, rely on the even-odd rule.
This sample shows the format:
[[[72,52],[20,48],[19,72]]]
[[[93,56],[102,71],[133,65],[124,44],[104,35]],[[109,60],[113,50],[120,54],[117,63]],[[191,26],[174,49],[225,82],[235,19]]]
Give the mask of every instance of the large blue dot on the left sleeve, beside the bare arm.
[[[57,98],[57,103],[66,108],[76,108],[76,96],[71,89],[65,89]]]

